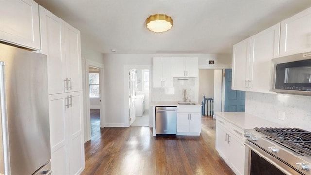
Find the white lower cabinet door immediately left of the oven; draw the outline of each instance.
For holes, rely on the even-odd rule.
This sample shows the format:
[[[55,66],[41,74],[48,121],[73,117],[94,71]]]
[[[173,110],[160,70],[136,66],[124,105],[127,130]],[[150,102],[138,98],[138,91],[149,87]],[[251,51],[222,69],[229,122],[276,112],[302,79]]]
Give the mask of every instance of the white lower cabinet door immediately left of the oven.
[[[245,174],[245,145],[242,140],[230,134],[230,167],[237,175]]]

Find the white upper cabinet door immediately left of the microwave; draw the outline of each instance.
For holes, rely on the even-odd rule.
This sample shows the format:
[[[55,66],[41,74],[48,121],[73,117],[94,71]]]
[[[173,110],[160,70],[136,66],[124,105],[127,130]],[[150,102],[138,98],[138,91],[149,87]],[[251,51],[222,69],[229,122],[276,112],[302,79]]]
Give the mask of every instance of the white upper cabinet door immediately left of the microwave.
[[[280,23],[251,37],[249,90],[269,92],[271,59],[278,57]]]

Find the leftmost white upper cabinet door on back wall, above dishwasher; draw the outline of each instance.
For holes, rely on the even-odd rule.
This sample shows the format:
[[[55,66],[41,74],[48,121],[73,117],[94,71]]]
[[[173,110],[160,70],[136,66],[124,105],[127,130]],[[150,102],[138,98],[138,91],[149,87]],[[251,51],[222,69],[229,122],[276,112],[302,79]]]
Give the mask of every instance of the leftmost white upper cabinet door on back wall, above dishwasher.
[[[153,58],[153,87],[163,87],[163,58]]]

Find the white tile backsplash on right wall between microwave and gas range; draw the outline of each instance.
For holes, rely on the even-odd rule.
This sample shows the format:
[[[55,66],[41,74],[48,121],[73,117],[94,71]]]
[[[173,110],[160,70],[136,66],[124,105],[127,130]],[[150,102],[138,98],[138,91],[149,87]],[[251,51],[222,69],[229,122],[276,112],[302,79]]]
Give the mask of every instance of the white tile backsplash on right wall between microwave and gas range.
[[[310,96],[246,92],[245,112],[285,127],[311,131]],[[278,119],[279,112],[285,112],[284,121]]]

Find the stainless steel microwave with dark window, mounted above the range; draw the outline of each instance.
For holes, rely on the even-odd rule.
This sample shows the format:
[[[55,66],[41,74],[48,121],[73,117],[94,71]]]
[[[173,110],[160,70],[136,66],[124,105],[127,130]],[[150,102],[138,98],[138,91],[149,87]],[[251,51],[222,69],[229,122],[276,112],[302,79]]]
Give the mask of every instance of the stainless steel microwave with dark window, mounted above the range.
[[[271,90],[311,96],[311,52],[272,59]]]

